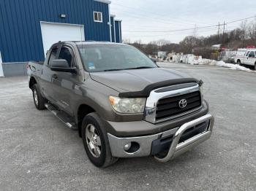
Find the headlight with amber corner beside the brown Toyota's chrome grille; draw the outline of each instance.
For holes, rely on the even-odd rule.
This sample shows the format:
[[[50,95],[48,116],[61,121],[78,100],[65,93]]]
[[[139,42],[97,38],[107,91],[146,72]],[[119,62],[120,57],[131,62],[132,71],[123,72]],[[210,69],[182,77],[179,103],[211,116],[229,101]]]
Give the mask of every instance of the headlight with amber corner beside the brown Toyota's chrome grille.
[[[146,104],[146,98],[118,98],[110,96],[109,101],[116,112],[124,114],[143,113]]]

